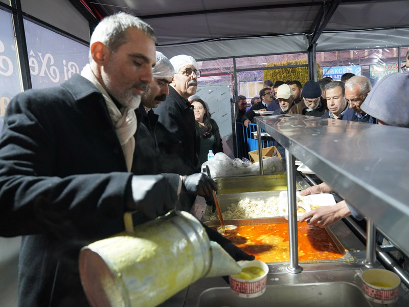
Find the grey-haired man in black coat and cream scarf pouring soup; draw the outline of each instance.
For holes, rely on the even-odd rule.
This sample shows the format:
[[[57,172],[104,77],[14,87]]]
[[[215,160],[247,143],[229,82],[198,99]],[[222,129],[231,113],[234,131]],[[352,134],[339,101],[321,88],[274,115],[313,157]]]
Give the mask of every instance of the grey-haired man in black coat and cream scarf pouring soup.
[[[0,139],[0,235],[23,235],[20,307],[87,306],[80,249],[123,231],[124,211],[136,210],[142,222],[174,207],[177,174],[133,174],[134,109],[154,63],[150,26],[112,15],[96,27],[81,76],[10,101]]]

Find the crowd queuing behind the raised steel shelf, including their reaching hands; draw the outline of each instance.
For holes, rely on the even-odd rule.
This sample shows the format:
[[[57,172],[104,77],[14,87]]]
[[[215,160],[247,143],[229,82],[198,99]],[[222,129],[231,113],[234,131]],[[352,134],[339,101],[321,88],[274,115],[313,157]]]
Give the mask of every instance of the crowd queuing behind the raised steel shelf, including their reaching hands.
[[[409,51],[406,54],[406,60],[409,62]],[[334,81],[328,77],[318,82],[309,80],[303,87],[299,81],[286,81],[280,84],[277,90],[274,89],[274,92],[271,87],[264,87],[260,91],[264,104],[251,106],[241,120],[245,126],[248,126],[255,116],[263,116],[263,114],[256,115],[254,111],[266,111],[274,101],[277,101],[279,108],[276,108],[272,115],[302,114],[335,120],[409,127],[409,104],[405,94],[409,91],[409,74],[406,70],[402,71],[404,74],[394,73],[383,77],[374,87],[369,78],[355,76],[352,73],[344,74],[341,81]],[[268,84],[272,82],[264,82],[264,85]],[[402,89],[405,90],[402,92]],[[274,97],[271,97],[273,93]],[[281,147],[278,143],[275,145]],[[301,191],[301,195],[330,192],[334,190],[323,182]],[[351,214],[357,220],[362,220],[362,216],[356,209],[341,201],[335,206],[323,206],[305,213],[300,222],[307,221],[310,225],[324,228]]]

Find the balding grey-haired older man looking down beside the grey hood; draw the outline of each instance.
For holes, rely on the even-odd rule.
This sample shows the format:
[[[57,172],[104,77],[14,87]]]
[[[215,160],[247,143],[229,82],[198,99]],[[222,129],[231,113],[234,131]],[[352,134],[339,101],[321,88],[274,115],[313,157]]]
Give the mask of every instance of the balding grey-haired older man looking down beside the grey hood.
[[[365,76],[353,76],[345,83],[345,99],[349,108],[354,109],[355,117],[353,121],[376,123],[376,119],[366,114],[360,108],[372,89],[371,81]]]

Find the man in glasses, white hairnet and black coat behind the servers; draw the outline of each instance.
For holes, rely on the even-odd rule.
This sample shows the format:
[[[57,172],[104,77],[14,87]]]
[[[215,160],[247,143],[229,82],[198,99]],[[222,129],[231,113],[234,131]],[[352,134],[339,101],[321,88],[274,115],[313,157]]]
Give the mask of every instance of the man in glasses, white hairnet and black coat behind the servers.
[[[161,152],[160,170],[165,173],[190,175],[199,172],[198,152],[200,139],[195,133],[195,118],[188,98],[196,93],[196,60],[189,55],[177,55],[170,59],[174,74],[169,85],[169,95],[155,108],[159,116],[156,127],[158,148]],[[181,200],[189,211],[194,202]]]

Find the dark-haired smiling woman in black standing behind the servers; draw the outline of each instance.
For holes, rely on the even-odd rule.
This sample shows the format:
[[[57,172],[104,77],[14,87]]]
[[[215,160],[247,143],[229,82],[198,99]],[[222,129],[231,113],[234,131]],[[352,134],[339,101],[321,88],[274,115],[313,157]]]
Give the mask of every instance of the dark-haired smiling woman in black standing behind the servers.
[[[209,109],[205,101],[200,98],[192,100],[193,112],[196,120],[196,135],[200,136],[199,163],[202,165],[208,160],[209,150],[213,153],[223,152],[223,145],[219,133],[219,127],[211,119]]]

